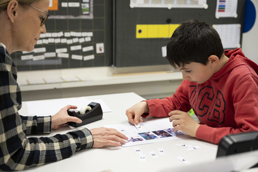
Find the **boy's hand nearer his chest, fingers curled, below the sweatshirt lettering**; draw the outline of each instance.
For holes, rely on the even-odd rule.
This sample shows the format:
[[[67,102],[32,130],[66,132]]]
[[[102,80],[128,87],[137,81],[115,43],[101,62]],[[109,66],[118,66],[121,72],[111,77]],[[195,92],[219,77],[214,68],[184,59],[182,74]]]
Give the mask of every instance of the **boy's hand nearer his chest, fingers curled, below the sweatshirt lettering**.
[[[169,121],[173,122],[174,132],[180,130],[183,133],[190,135],[192,137],[196,137],[196,131],[199,128],[200,124],[198,124],[192,117],[183,111],[171,111],[169,113]]]

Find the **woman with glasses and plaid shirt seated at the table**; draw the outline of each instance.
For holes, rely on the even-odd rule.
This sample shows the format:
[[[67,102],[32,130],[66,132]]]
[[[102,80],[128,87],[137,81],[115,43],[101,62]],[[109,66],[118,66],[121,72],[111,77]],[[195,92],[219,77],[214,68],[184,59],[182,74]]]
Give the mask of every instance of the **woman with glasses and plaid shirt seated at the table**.
[[[52,117],[19,115],[21,91],[17,85],[17,68],[10,53],[32,51],[39,35],[46,32],[49,0],[0,1],[0,169],[23,170],[30,166],[70,157],[75,151],[120,146],[128,138],[111,128],[82,128],[66,135],[29,137],[50,133],[67,122],[82,122],[67,114],[68,105]],[[55,146],[54,146],[55,145]],[[59,145],[59,146],[56,146]],[[62,148],[62,149],[61,149]],[[59,152],[56,154],[56,152]]]

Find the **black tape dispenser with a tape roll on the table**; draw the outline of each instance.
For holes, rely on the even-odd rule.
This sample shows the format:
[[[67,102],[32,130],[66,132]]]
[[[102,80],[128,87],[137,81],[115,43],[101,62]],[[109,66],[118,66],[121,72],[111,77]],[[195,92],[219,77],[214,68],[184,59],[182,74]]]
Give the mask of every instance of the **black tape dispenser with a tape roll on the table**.
[[[80,120],[82,120],[81,124],[78,124],[76,122],[68,122],[68,125],[78,127],[78,126],[83,126],[85,124],[89,124],[91,122],[95,122],[102,119],[103,112],[100,104],[96,102],[91,102],[84,110],[81,110],[81,111],[68,110],[67,111],[68,115],[73,117],[78,117],[80,118]]]

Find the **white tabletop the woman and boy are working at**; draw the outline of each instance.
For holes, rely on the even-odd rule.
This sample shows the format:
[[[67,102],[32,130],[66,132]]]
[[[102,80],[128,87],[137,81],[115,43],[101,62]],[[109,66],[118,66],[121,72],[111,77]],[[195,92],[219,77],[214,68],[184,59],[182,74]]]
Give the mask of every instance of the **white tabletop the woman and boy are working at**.
[[[103,119],[91,124],[86,124],[86,128],[96,128],[104,125],[128,124],[125,111],[134,104],[142,101],[144,98],[135,93],[122,93],[113,95],[89,96],[88,99],[103,99],[103,101],[111,108],[111,113],[104,113]],[[42,108],[44,104],[42,104]],[[21,115],[28,114],[28,108],[23,102],[23,107],[19,111]],[[64,126],[57,131],[53,131],[50,135],[40,135],[48,137],[57,133],[67,133],[73,128]],[[192,146],[201,146],[201,149],[195,151],[187,151],[185,147],[176,146],[176,144],[191,144]],[[146,162],[139,161],[139,155],[134,151],[133,146],[130,147],[104,147],[102,149],[86,149],[75,153],[71,157],[30,168],[26,171],[163,171],[175,167],[187,166],[176,157],[184,157],[192,164],[201,162],[209,162],[216,159],[217,145],[196,138],[185,138],[167,142],[159,142],[154,144],[144,144],[140,147],[142,153],[146,155]],[[158,155],[158,148],[165,150],[165,155]],[[154,159],[149,155],[149,151],[154,151],[158,155],[158,159]]]

